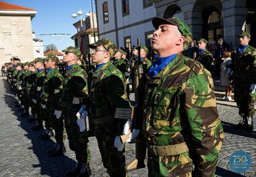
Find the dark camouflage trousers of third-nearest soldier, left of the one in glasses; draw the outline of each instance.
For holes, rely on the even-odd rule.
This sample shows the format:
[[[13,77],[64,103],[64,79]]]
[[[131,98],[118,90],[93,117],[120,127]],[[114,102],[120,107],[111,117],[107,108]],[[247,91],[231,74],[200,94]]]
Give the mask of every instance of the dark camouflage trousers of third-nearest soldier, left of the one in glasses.
[[[89,163],[91,160],[91,152],[88,146],[88,135],[86,132],[80,132],[76,123],[76,113],[80,108],[63,108],[65,129],[68,136],[69,148],[75,151],[77,162]]]

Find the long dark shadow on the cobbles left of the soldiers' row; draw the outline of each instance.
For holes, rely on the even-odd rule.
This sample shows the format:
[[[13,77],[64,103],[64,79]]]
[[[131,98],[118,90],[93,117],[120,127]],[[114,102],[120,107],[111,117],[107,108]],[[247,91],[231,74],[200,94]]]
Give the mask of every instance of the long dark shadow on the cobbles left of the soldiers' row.
[[[32,176],[33,175],[66,176],[65,173],[67,172],[67,170],[70,170],[70,168],[75,166],[76,164],[75,160],[69,158],[66,155],[61,155],[59,157],[51,157],[49,154],[47,154],[47,151],[54,147],[55,145],[54,141],[52,139],[41,140],[39,138],[39,135],[41,135],[41,133],[43,133],[44,130],[37,130],[37,131],[31,130],[31,127],[35,124],[35,122],[29,123],[27,122],[28,117],[20,116],[21,112],[17,111],[17,108],[15,108],[14,104],[16,100],[13,96],[13,93],[10,91],[9,84],[6,82],[5,79],[4,79],[4,87],[6,89],[6,94],[4,94],[4,100],[6,102],[6,105],[12,109],[12,111],[14,112],[13,114],[17,116],[17,120],[20,121],[20,125],[18,126],[23,128],[23,130],[27,132],[27,134],[25,134],[24,136],[27,136],[27,138],[31,140],[32,146],[27,148],[33,150],[33,154],[30,154],[30,160],[28,160],[28,162],[31,162],[32,169],[28,171],[33,171],[34,169],[33,171],[34,173],[32,172],[27,175],[28,176],[31,176],[31,175]],[[33,164],[33,162],[38,162],[38,161],[39,163]],[[39,172],[39,170],[36,170],[35,168],[41,168],[41,171]],[[25,171],[26,169],[23,169],[23,170]],[[35,173],[35,171],[37,173]]]

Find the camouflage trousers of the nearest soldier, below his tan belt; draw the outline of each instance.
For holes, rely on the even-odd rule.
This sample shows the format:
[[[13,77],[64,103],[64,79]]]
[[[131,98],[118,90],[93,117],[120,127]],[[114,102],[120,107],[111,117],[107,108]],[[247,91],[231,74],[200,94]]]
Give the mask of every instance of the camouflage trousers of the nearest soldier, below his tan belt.
[[[149,177],[159,176],[178,176],[188,177],[192,176],[192,160],[188,152],[170,155],[157,156],[152,152],[147,151],[147,168],[149,170]]]

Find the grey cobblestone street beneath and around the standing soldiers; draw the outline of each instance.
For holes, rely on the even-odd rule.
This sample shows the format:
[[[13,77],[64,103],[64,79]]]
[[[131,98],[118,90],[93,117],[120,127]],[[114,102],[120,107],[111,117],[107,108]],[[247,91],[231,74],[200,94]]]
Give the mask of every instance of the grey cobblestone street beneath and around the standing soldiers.
[[[4,78],[4,77],[2,77]],[[44,130],[34,132],[27,118],[20,116],[14,106],[15,98],[10,92],[6,79],[0,79],[0,176],[65,176],[75,167],[75,154],[68,148],[60,157],[50,157],[47,150],[54,146],[54,138],[40,140],[38,136]],[[238,109],[234,106],[218,104],[225,131],[225,141],[218,158],[217,176],[256,176],[256,132],[234,130],[233,125],[239,122]],[[256,128],[256,121],[254,127]],[[92,176],[108,176],[101,162],[95,137],[89,138],[92,154],[90,163]],[[135,157],[135,144],[126,146],[126,163]],[[245,173],[234,172],[229,165],[229,157],[235,151],[245,151],[250,155],[251,167]],[[147,159],[146,159],[147,160]],[[147,168],[128,173],[129,176],[148,176]]]

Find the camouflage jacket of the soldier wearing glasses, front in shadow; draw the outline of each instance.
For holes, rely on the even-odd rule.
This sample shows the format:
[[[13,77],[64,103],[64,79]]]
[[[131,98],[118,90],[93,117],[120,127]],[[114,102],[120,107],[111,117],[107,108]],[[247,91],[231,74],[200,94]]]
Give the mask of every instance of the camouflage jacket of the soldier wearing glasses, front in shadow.
[[[126,93],[125,76],[114,65],[106,63],[93,74],[89,112],[91,119],[113,116],[115,108],[130,108],[131,104]],[[117,120],[116,135],[123,134],[126,120]],[[114,125],[113,125],[114,126]]]

